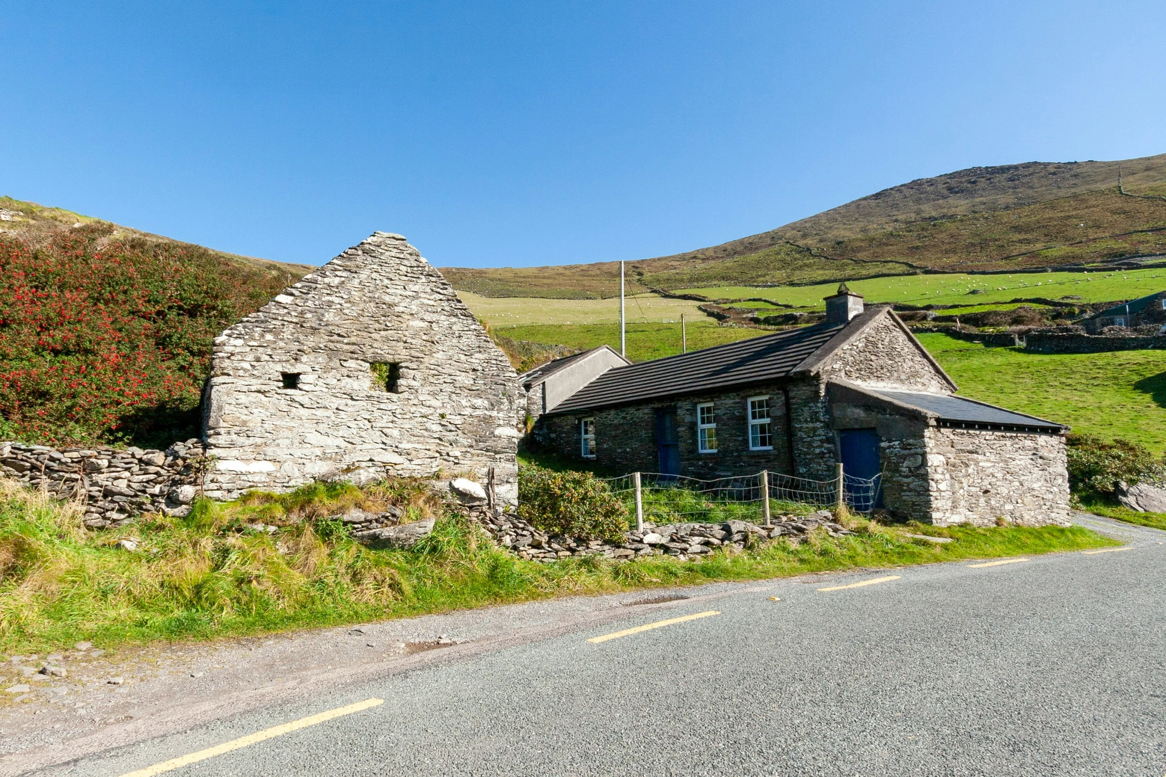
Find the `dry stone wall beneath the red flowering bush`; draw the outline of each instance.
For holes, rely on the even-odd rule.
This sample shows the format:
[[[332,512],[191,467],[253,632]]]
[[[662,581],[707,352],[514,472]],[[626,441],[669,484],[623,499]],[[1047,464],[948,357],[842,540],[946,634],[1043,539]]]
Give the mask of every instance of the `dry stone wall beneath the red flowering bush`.
[[[204,460],[197,439],[166,451],[0,443],[0,472],[50,496],[79,502],[91,529],[121,525],[146,511],[189,514],[202,490]]]

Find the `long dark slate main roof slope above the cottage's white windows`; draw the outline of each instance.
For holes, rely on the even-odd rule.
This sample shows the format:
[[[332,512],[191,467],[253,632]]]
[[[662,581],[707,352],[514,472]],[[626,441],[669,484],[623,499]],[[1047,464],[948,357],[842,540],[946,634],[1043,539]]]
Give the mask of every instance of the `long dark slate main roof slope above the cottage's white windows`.
[[[616,367],[556,405],[552,415],[788,377],[844,329],[845,324],[815,324]]]

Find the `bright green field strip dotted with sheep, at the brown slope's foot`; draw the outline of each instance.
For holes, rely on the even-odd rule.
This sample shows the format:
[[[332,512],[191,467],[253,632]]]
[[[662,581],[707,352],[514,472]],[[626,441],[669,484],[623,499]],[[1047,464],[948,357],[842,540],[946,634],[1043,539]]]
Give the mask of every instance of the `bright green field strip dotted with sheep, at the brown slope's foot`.
[[[847,285],[872,303],[908,305],[984,305],[1009,302],[1016,297],[1073,297],[1074,302],[1109,302],[1132,299],[1166,288],[1166,269],[1128,273],[999,273],[992,275],[897,275],[866,281],[848,281]],[[833,295],[838,284],[820,283],[800,287],[707,287],[680,289],[710,299],[758,297],[798,308],[822,308],[822,299]],[[971,294],[977,291],[977,294]]]

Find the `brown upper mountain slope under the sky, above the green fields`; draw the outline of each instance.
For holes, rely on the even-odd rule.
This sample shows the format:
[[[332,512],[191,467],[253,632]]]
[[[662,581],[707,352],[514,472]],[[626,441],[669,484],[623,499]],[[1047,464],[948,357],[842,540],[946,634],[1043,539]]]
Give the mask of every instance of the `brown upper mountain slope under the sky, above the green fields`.
[[[1166,254],[1166,154],[960,170],[721,246],[628,262],[627,271],[634,290],[673,290],[1104,264],[1154,254]],[[614,262],[442,271],[455,288],[492,297],[618,294]]]

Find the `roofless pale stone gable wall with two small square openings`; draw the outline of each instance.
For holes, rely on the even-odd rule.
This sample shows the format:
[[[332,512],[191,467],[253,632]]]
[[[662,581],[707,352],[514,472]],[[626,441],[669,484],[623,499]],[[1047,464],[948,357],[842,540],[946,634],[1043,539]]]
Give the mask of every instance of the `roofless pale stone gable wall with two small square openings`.
[[[518,495],[518,375],[442,275],[375,232],[215,340],[206,495],[496,471]]]

